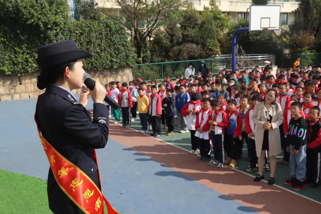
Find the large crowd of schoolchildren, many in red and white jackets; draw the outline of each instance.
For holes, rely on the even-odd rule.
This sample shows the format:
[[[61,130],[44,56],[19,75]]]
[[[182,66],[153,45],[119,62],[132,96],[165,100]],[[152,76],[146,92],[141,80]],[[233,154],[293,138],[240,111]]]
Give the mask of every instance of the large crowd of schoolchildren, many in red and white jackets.
[[[106,89],[120,106],[121,127],[130,127],[130,122],[136,120],[136,111],[141,133],[151,130],[151,135],[158,138],[161,129],[166,129],[165,134],[170,136],[174,127],[179,127],[178,133],[191,134],[189,153],[200,155],[199,160],[219,168],[235,167],[245,142],[250,163],[246,170],[257,173],[258,127],[251,118],[258,102],[265,100],[265,96],[273,98],[280,104],[283,115],[278,128],[284,153],[277,163],[289,164],[291,169],[291,178],[284,183],[294,190],[308,183],[317,187],[321,170],[321,88],[318,88],[321,67],[313,70],[307,66],[300,70],[298,66],[295,70],[287,69],[286,73],[278,69],[276,74],[272,70],[269,66],[261,71],[256,66],[250,72],[223,69],[216,77],[207,71],[205,76],[204,72],[197,72],[196,77],[188,78],[185,72],[176,77],[175,86],[166,76],[159,84],[155,80],[147,84],[137,78],[128,85],[110,82]],[[271,90],[275,97],[268,93]],[[175,111],[178,124],[174,123]],[[119,123],[119,110],[111,109],[111,112],[116,119],[114,123]],[[262,158],[264,171],[270,171],[267,153]],[[258,180],[259,173],[255,181]],[[274,178],[269,180],[269,184],[273,183]]]

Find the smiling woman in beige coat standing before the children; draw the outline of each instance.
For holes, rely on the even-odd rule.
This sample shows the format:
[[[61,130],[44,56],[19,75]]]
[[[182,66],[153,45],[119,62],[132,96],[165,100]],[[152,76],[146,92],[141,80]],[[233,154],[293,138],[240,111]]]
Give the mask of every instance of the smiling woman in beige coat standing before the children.
[[[283,123],[283,114],[280,104],[275,102],[276,95],[276,90],[269,89],[265,94],[265,98],[261,102],[256,103],[252,115],[252,120],[257,126],[254,135],[256,155],[259,163],[259,175],[254,178],[254,181],[257,182],[264,179],[265,150],[268,150],[271,165],[269,185],[274,184],[276,170],[275,156],[281,153],[279,126]]]

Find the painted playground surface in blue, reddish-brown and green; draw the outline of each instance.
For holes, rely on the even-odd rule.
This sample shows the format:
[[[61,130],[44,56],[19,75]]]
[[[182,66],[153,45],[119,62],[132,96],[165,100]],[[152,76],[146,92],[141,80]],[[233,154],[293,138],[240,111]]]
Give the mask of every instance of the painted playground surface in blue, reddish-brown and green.
[[[22,174],[16,175],[19,180],[26,175],[43,180],[47,180],[48,176],[49,163],[33,120],[35,105],[36,99],[0,102],[3,112],[0,123],[0,169]],[[87,109],[92,109],[91,102]],[[113,120],[113,117],[110,119]],[[175,132],[172,136],[162,134],[160,139],[155,139],[139,133],[139,130],[139,120],[132,122],[130,129],[110,123],[106,147],[96,150],[103,193],[121,213],[320,212],[321,186],[315,189],[307,186],[296,192],[291,190],[283,184],[284,179],[290,176],[288,165],[277,166],[275,185],[253,182],[256,173],[246,172],[246,145],[243,158],[237,161],[236,168],[217,168],[188,154],[190,133]],[[265,172],[265,178],[268,177],[269,172]],[[0,174],[0,184],[4,184],[6,179]],[[0,188],[0,208],[11,206],[4,204],[2,198],[5,197],[6,201],[14,201],[17,208],[23,209],[25,202],[19,203],[16,198],[11,198],[13,195],[7,195],[8,191],[2,191],[3,188]],[[24,188],[12,188],[13,191],[23,193]],[[30,204],[32,201],[26,199],[35,206],[28,213],[50,213],[48,208],[37,209],[37,206],[48,204],[46,186],[37,191],[41,192],[39,197],[45,203]],[[7,210],[4,213],[22,213]]]

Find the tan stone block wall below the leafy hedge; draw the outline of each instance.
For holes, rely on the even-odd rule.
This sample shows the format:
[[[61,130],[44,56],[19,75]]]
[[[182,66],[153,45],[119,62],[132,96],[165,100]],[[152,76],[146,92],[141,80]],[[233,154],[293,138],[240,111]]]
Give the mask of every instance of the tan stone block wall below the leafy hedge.
[[[129,82],[133,80],[131,68],[118,68],[114,70],[87,71],[94,80],[105,85],[110,81]],[[37,75],[39,73],[17,75],[0,75],[0,101],[36,98],[44,90],[37,88]],[[74,94],[79,94],[80,89],[72,90]]]

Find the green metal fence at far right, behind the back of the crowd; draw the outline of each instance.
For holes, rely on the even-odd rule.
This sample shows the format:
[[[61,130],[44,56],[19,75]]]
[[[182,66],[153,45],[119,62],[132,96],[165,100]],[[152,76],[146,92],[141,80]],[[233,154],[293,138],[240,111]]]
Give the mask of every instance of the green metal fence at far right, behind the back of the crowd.
[[[300,58],[300,67],[304,65],[317,66],[321,63],[321,53],[312,54],[273,54],[275,64],[280,68],[293,67],[297,58]]]

